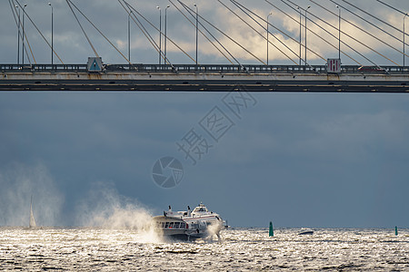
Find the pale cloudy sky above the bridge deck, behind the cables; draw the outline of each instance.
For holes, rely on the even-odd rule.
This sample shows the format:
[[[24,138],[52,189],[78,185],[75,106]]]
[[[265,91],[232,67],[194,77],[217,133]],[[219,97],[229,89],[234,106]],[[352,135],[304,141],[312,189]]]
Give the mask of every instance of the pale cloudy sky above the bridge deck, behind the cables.
[[[51,8],[48,5],[49,2],[54,6],[55,13],[55,52],[58,53],[64,63],[84,63],[88,56],[94,55],[94,52],[91,46],[86,42],[85,35],[81,32],[65,0],[20,1],[21,5],[27,4],[25,8],[27,14],[35,22],[38,29],[45,35],[48,41],[50,41],[51,38]],[[307,60],[311,63],[324,64],[324,60],[327,58],[338,56],[338,9],[334,3],[343,7],[341,13],[341,17],[343,18],[341,30],[343,34],[341,34],[341,40],[344,44],[342,44],[341,49],[344,52],[342,58],[344,64],[371,64],[370,61],[382,65],[403,63],[402,29],[404,15],[386,5],[380,4],[376,0],[360,1],[356,7],[364,9],[370,15],[378,17],[387,24],[381,23],[381,21],[374,17],[365,15],[362,11],[349,5],[348,3],[350,2],[346,1],[345,3],[341,0],[334,0],[334,3],[331,2],[331,0],[318,2],[296,0],[291,3],[288,2],[288,0],[239,2],[254,12],[255,15],[253,15],[253,17],[256,18],[260,24],[254,23],[250,17],[244,15],[244,13],[230,1],[223,0],[220,2],[234,11],[238,16],[227,10],[218,0],[203,1],[203,3],[197,2],[196,4],[199,9],[199,14],[203,15],[204,19],[210,21],[218,29],[228,34],[235,42],[242,44],[253,54],[246,53],[224,34],[215,31],[212,26],[204,23],[205,27],[217,37],[220,43],[224,44],[224,47],[242,63],[260,63],[254,56],[265,61],[267,49],[265,22],[262,22],[261,19],[257,19],[255,15],[265,20],[269,13],[272,13],[272,15],[269,16],[269,22],[273,24],[270,26],[272,34],[269,36],[269,40],[274,44],[270,45],[269,50],[271,63],[293,64],[290,59],[298,63],[298,56],[294,53],[299,53],[299,44],[297,44],[300,34],[299,14],[298,10],[294,8],[294,5],[291,3],[299,5],[302,9],[311,5],[311,8],[308,9],[310,13],[308,18],[314,20],[307,22],[309,29],[307,32],[307,45],[308,48],[312,50],[307,53]],[[404,1],[385,0],[384,2],[401,11],[407,10]],[[118,1],[86,0],[73,1],[73,3],[127,56],[128,15]],[[177,0],[157,0],[154,2],[130,0],[128,3],[133,5],[137,12],[144,15],[145,18],[152,24],[155,24],[156,27],[159,25],[159,11],[156,6],[160,6],[163,15],[163,32],[165,32],[165,7],[170,5],[170,8],[167,9],[168,37],[174,41],[175,44],[178,44],[186,53],[191,56],[195,55],[195,27],[176,9],[177,7],[187,15],[185,9],[178,4]],[[173,5],[173,3],[175,5]],[[195,9],[195,1],[189,0],[184,3],[186,6]],[[0,5],[0,15],[2,18],[2,24],[0,26],[2,33],[1,61],[2,63],[15,63],[17,58],[17,27],[15,19],[8,0],[2,1]],[[304,14],[304,11],[302,13]],[[359,15],[362,19],[353,13]],[[86,22],[82,15],[78,12],[76,12],[76,14],[84,26],[85,32],[90,36],[97,53],[103,57],[105,63],[126,63],[121,54],[117,53],[115,49],[105,41],[102,35],[98,34],[95,29]],[[188,15],[188,18],[193,19],[190,15]],[[155,42],[158,43],[158,32],[155,31],[151,25],[146,23],[140,15],[138,15],[138,19],[143,22],[145,29],[152,35]],[[367,22],[364,22],[363,19]],[[257,34],[252,28],[244,24],[242,20],[254,27],[254,29],[258,33],[263,34],[263,36]],[[203,21],[204,20],[201,20],[201,22]],[[27,23],[25,24],[25,32],[31,44],[35,61],[37,63],[50,63],[51,49],[26,17],[25,22]],[[131,61],[134,63],[157,63],[156,60],[158,58],[156,56],[158,56],[158,53],[156,53],[153,46],[147,41],[145,35],[135,23],[132,23]],[[375,24],[378,28],[368,23]],[[361,28],[361,30],[353,24]],[[334,27],[329,25],[333,25]],[[302,28],[302,52],[304,58],[304,15],[302,18]],[[203,27],[201,27],[201,30],[203,30]],[[282,32],[279,32],[279,30]],[[365,34],[364,31],[369,34]],[[285,48],[277,39],[286,44],[288,48]],[[199,40],[199,61],[201,63],[229,63],[213,45],[207,42],[204,36],[201,35]],[[387,41],[387,43],[385,41]],[[193,62],[185,53],[181,53],[172,42],[169,41],[167,44],[168,57],[172,63]],[[162,43],[162,45],[165,45],[165,43]],[[274,48],[274,46],[277,48]],[[353,49],[356,52],[354,52]],[[280,53],[279,50],[283,51],[289,58],[287,58],[284,53]],[[31,59],[33,59],[33,57],[31,57]],[[25,61],[27,61],[26,57]]]

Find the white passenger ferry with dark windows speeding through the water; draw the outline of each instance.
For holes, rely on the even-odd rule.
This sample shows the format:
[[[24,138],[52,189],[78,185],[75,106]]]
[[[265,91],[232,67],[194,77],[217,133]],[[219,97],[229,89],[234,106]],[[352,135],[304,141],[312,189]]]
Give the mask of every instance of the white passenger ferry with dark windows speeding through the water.
[[[207,238],[216,235],[220,239],[220,231],[226,228],[224,220],[213,211],[209,211],[200,203],[193,211],[164,211],[163,216],[154,218],[155,228],[165,237],[178,239]]]

